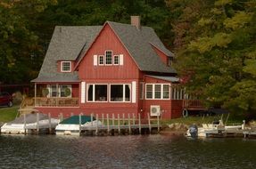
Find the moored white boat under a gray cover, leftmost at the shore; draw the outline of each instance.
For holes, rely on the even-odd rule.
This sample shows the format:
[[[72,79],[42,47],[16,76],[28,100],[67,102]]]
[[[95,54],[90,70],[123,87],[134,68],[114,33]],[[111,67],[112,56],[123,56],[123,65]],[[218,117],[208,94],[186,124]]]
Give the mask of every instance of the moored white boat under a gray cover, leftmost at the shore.
[[[25,117],[24,117],[25,116]],[[15,118],[1,127],[1,133],[26,134],[35,130],[42,133],[45,129],[55,128],[60,122],[59,119],[50,118],[43,113],[32,113]],[[51,123],[51,124],[50,124]]]

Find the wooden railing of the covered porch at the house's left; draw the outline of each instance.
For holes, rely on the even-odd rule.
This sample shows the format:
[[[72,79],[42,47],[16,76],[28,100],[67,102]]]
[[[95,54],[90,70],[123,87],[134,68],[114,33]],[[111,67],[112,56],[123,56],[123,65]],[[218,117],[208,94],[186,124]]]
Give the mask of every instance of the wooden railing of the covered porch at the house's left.
[[[35,98],[36,106],[42,107],[78,107],[78,98]]]

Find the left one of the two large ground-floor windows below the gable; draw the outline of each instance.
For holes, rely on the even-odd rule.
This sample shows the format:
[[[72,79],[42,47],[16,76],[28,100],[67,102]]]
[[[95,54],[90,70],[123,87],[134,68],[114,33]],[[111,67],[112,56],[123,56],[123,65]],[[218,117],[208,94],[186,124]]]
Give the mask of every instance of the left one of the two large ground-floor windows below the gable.
[[[87,84],[87,101],[108,101],[107,84]]]

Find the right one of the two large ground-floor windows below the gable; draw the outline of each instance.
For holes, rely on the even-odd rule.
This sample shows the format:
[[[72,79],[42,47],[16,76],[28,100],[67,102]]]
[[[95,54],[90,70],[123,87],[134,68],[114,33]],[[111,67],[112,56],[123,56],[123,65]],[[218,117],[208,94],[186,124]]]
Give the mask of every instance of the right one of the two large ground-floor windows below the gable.
[[[129,102],[131,100],[130,84],[111,84],[110,101]]]

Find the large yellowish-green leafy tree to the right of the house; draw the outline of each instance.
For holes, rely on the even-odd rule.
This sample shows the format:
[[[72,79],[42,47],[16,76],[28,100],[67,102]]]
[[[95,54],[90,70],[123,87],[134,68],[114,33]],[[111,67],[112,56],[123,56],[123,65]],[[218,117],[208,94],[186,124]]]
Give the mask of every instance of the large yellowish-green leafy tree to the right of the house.
[[[174,10],[178,14],[173,31],[181,42],[176,45],[177,68],[187,91],[208,106],[255,113],[255,1],[170,0],[169,4],[179,9]],[[177,30],[180,24],[186,24],[186,30]]]

